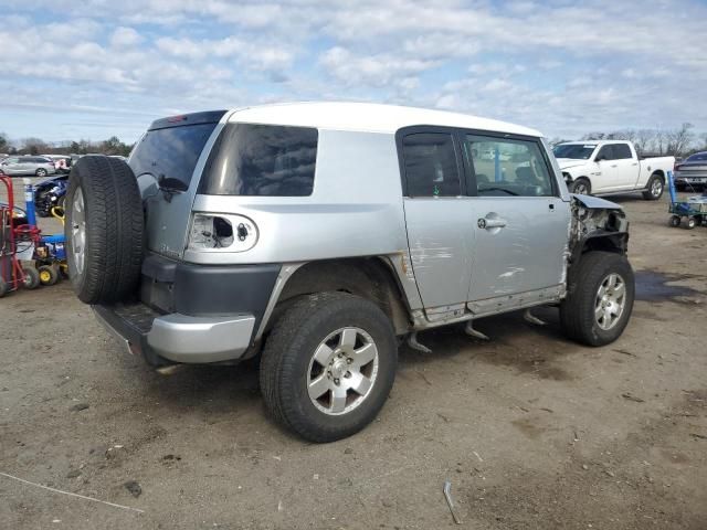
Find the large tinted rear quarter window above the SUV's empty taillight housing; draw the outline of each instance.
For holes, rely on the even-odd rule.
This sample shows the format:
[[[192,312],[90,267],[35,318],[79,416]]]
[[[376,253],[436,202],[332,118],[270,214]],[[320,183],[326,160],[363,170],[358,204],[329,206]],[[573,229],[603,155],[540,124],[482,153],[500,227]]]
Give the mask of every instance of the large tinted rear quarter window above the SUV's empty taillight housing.
[[[199,192],[310,195],[317,141],[315,128],[229,124],[209,157]]]

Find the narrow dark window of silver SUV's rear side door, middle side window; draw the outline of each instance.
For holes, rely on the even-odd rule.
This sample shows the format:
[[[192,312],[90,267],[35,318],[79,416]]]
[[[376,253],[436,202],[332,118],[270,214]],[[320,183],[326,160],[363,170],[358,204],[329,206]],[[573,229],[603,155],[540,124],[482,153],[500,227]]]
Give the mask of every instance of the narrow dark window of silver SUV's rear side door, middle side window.
[[[452,136],[442,132],[408,135],[402,140],[408,197],[462,194]]]

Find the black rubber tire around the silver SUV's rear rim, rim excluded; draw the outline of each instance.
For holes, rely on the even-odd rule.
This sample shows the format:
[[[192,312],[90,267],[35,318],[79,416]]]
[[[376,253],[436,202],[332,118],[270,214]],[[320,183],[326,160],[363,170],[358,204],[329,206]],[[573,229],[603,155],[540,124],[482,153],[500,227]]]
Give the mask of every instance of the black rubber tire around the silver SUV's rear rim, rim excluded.
[[[372,338],[378,372],[358,406],[331,415],[309,398],[310,362],[321,341],[346,327],[359,328]],[[388,399],[397,365],[395,336],[377,305],[347,293],[307,295],[283,314],[267,338],[261,360],[261,391],[268,412],[283,426],[310,442],[334,442],[373,421]]]

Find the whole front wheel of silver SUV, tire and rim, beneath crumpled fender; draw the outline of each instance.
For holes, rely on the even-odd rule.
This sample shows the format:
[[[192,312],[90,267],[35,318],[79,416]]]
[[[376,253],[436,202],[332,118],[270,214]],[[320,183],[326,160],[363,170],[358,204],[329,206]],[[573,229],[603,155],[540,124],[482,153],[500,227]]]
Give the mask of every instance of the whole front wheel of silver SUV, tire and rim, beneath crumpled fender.
[[[623,332],[635,295],[633,269],[625,256],[589,252],[571,273],[560,305],[563,332],[587,346],[604,346]]]

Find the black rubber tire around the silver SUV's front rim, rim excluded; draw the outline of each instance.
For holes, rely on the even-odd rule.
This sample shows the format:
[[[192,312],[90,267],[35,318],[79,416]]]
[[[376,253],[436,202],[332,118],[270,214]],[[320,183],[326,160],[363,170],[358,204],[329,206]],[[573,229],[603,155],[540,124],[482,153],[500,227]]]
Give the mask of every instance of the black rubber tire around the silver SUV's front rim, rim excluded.
[[[587,346],[604,346],[616,340],[631,318],[635,298],[634,276],[625,256],[613,252],[589,252],[582,256],[579,269],[571,273],[568,294],[560,305],[560,322],[567,337]],[[623,280],[623,310],[610,329],[602,329],[594,311],[598,293],[611,274]]]

